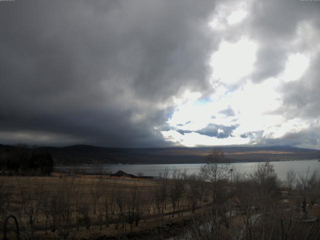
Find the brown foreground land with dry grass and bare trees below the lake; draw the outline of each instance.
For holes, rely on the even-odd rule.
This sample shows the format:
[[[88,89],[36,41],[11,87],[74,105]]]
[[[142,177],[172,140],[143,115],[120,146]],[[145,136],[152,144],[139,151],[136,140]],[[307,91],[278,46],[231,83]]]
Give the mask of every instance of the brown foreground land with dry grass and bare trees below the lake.
[[[197,175],[90,177],[1,176],[0,224],[14,214],[20,239],[320,239],[316,170],[280,182],[268,162],[242,174],[213,150]]]

